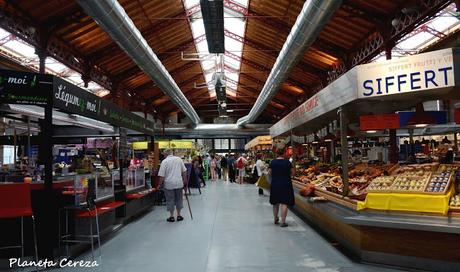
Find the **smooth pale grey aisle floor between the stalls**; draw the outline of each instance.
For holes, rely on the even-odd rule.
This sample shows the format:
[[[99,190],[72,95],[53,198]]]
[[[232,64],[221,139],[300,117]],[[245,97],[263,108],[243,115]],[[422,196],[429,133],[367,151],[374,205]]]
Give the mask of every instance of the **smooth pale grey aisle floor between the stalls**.
[[[94,270],[395,271],[353,262],[292,213],[289,227],[274,225],[268,197],[257,191],[226,182],[193,190],[193,221],[184,210],[185,221],[168,223],[165,207],[156,207],[103,244]]]

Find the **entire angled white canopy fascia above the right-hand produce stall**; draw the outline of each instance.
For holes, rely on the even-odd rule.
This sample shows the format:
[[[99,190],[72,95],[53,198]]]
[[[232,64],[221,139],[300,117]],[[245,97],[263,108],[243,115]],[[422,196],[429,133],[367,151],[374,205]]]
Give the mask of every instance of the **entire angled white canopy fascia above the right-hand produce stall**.
[[[460,92],[459,95],[451,92],[460,84],[458,65],[460,49],[457,48],[358,65],[274,124],[270,135],[282,135],[344,105],[365,99],[427,100],[438,99],[446,93],[449,97],[459,97]]]

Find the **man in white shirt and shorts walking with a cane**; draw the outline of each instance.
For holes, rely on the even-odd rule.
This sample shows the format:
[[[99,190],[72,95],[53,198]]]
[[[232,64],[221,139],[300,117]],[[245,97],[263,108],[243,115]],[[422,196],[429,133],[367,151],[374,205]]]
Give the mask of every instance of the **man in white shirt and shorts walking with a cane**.
[[[181,158],[174,156],[171,149],[166,149],[163,154],[166,158],[161,162],[158,176],[161,184],[164,183],[164,193],[166,198],[166,208],[169,211],[168,222],[174,222],[174,208],[177,213],[177,221],[182,221],[184,218],[181,216],[183,208],[183,192],[184,183],[187,180],[187,168]]]

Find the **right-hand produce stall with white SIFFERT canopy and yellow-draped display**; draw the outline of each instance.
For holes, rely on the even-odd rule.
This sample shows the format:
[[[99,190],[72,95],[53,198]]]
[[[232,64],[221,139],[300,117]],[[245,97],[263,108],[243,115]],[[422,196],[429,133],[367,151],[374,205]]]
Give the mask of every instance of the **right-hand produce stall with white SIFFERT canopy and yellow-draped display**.
[[[423,152],[415,151],[413,141],[417,133],[442,134],[441,126],[449,127],[446,135],[460,131],[453,103],[433,113],[445,118],[421,106],[459,98],[458,55],[457,49],[444,49],[357,66],[270,129],[275,139],[304,135],[314,150],[337,149],[336,160],[298,167],[294,209],[363,261],[446,271],[460,265],[453,242],[460,238],[460,219],[451,206],[458,199],[459,167],[449,152],[415,156]],[[411,108],[416,110],[401,112]],[[349,137],[350,128],[360,140]],[[379,130],[382,146],[373,135]],[[403,158],[398,138],[407,136],[410,156]]]

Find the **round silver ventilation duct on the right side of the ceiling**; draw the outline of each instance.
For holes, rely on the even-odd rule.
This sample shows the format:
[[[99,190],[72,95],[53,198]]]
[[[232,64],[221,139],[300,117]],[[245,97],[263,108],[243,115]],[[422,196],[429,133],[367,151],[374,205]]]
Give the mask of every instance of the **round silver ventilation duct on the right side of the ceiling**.
[[[313,44],[341,3],[341,0],[305,2],[254,107],[248,115],[237,121],[239,126],[252,123],[259,117],[298,61],[303,59],[305,51]]]

